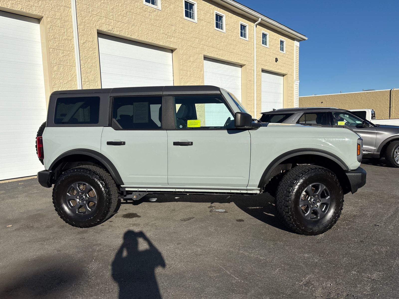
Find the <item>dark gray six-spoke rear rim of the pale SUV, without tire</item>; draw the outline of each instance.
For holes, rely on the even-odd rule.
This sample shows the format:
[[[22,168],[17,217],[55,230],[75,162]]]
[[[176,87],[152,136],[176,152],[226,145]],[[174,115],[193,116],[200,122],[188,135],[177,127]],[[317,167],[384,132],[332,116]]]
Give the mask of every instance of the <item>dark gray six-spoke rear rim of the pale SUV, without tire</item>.
[[[71,212],[87,215],[92,213],[97,205],[97,194],[95,189],[88,183],[76,182],[67,189],[65,201]]]

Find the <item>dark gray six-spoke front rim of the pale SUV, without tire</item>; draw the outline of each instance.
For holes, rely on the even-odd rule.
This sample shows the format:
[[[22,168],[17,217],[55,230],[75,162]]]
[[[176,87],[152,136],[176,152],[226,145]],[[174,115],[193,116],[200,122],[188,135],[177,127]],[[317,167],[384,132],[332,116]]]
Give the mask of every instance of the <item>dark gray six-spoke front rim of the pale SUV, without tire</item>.
[[[318,220],[326,215],[331,205],[330,191],[322,183],[312,183],[305,188],[299,200],[302,216]]]

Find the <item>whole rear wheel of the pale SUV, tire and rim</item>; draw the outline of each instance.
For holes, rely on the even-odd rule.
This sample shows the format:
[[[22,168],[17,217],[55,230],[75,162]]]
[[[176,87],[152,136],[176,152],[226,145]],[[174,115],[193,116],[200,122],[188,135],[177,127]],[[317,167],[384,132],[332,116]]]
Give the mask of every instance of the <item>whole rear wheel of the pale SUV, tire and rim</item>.
[[[93,227],[107,220],[118,203],[111,175],[95,166],[65,171],[53,188],[53,204],[62,220],[75,227]]]

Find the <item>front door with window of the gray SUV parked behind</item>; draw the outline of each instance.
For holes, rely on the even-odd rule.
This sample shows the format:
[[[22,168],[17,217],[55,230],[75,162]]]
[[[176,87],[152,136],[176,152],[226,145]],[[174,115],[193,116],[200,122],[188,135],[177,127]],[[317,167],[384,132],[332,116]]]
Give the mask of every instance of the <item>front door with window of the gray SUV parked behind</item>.
[[[349,112],[333,112],[334,125],[349,126],[363,138],[363,151],[375,152],[377,130],[370,122]]]

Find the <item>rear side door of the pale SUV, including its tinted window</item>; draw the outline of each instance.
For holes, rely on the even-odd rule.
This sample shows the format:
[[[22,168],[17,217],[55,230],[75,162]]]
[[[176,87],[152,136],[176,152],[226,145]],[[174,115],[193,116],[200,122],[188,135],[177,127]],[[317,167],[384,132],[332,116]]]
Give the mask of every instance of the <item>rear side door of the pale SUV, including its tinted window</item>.
[[[116,96],[104,127],[101,153],[119,171],[125,186],[167,186],[167,134],[162,129],[162,96]]]

